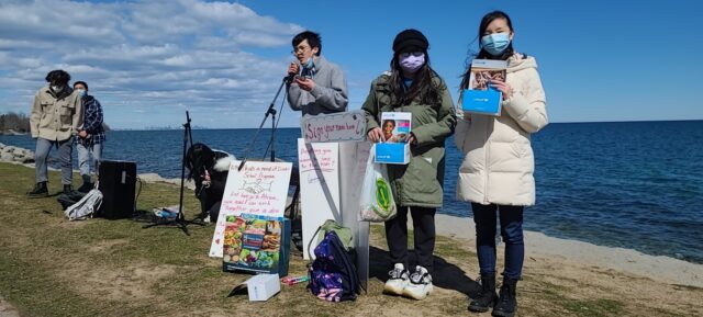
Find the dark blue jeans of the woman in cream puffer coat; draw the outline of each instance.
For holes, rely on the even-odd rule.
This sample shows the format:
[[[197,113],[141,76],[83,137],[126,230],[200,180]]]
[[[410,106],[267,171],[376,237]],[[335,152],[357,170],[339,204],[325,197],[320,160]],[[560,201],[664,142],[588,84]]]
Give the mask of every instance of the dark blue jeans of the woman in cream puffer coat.
[[[505,242],[503,276],[520,280],[525,258],[523,239],[523,206],[481,205],[471,203],[476,223],[476,247],[481,275],[495,274],[495,212],[501,222],[501,237]]]

